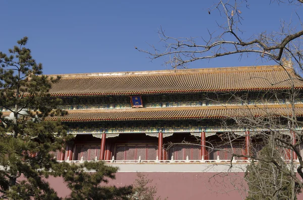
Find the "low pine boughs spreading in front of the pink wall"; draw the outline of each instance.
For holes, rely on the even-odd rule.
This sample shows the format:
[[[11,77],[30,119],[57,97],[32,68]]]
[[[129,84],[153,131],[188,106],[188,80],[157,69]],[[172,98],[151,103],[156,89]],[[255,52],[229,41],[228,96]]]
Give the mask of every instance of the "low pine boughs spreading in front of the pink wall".
[[[117,167],[105,165],[104,162],[87,162],[82,165],[68,165],[71,171],[63,170],[64,181],[72,190],[67,200],[129,199],[132,186],[116,187],[106,185],[109,179],[115,179]],[[74,173],[75,172],[75,173]]]

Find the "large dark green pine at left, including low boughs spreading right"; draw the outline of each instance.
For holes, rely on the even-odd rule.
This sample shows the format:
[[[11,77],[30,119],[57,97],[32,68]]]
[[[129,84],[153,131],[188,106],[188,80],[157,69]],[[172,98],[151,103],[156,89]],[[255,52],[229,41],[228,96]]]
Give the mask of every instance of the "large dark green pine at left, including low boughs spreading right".
[[[61,199],[47,182],[51,175],[64,177],[72,190],[68,199],[100,199],[89,196],[101,194],[106,199],[126,199],[131,186],[99,185],[114,178],[117,168],[102,162],[70,165],[54,158],[51,152],[64,150],[72,138],[60,120],[44,120],[67,114],[57,109],[61,100],[48,94],[60,77],[42,75],[42,64],[32,58],[27,41],[27,37],[19,40],[9,49],[10,55],[0,51],[0,198]]]

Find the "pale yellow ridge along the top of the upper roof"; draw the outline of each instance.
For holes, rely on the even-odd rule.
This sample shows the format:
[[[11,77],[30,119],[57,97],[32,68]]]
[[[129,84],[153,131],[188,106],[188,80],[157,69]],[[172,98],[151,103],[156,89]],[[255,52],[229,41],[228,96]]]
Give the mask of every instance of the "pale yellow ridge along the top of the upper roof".
[[[49,77],[61,76],[61,78],[88,78],[88,77],[117,77],[117,76],[145,76],[145,75],[170,75],[170,74],[195,74],[195,73],[232,73],[232,72],[266,72],[284,70],[280,65],[258,65],[258,66],[231,66],[225,68],[200,68],[182,70],[157,70],[157,71],[134,71],[134,72],[106,72],[106,73],[80,73],[46,75]],[[293,70],[293,69],[286,69]]]

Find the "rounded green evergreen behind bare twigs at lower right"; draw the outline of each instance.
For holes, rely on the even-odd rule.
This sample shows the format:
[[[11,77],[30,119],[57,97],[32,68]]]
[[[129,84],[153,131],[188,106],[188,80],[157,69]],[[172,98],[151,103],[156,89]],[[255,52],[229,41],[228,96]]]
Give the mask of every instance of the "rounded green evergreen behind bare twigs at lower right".
[[[247,166],[245,172],[245,179],[248,184],[247,200],[287,200],[291,198],[292,189],[295,190],[296,194],[300,193],[300,187],[294,184],[295,188],[292,188],[293,180],[270,162],[271,159],[274,159],[285,170],[288,170],[287,164],[279,155],[277,149],[267,145],[259,152],[258,157],[261,160],[257,163],[252,161]]]

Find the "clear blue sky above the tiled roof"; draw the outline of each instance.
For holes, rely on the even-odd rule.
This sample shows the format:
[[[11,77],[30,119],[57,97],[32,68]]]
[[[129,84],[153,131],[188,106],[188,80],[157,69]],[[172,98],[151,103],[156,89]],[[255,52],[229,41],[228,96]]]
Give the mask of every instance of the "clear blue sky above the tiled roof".
[[[190,3],[188,3],[190,2]],[[0,50],[7,52],[23,36],[44,74],[169,69],[163,59],[150,62],[134,46],[159,45],[160,26],[168,35],[206,36],[217,29],[218,13],[208,14],[213,1],[2,1]],[[278,31],[280,20],[297,22],[296,7],[249,0],[242,8],[243,34]],[[302,15],[302,8],[297,12]],[[303,19],[303,16],[301,16]],[[238,56],[197,61],[189,68],[262,64]]]

